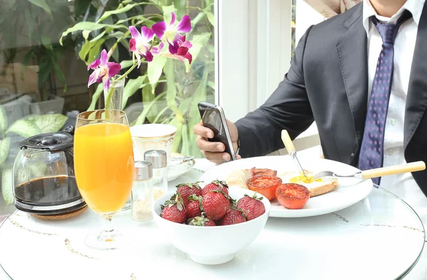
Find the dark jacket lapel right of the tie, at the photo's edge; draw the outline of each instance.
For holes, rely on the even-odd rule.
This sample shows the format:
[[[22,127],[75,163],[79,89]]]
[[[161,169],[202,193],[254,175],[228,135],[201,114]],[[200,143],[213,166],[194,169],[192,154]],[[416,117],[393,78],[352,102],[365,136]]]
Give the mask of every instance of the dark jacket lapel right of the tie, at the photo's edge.
[[[411,76],[409,78],[408,96],[406,97],[406,113],[404,124],[404,148],[408,146],[413,134],[421,122],[427,108],[427,4],[423,7],[415,50]]]

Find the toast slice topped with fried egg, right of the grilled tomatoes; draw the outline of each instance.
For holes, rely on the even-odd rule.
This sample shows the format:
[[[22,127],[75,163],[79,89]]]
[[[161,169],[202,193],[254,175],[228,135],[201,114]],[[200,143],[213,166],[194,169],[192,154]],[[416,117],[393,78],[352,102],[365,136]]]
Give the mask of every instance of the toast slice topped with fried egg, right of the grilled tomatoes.
[[[315,182],[312,182],[310,178],[314,176],[310,171],[304,170],[305,175],[309,180],[304,180],[304,177],[301,177],[295,171],[289,171],[286,173],[280,174],[278,177],[282,179],[283,183],[297,183],[304,185],[310,191],[310,198],[313,198],[317,195],[324,195],[325,193],[330,193],[332,190],[336,189],[339,185],[338,179],[318,179]]]

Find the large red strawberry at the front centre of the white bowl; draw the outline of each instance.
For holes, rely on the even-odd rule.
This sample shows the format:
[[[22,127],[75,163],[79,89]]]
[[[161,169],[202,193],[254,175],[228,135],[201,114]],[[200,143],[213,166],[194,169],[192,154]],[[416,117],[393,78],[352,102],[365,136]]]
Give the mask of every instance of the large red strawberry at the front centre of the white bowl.
[[[221,190],[211,190],[209,193],[206,193],[201,200],[201,205],[206,216],[212,220],[221,219],[230,210],[228,195]]]

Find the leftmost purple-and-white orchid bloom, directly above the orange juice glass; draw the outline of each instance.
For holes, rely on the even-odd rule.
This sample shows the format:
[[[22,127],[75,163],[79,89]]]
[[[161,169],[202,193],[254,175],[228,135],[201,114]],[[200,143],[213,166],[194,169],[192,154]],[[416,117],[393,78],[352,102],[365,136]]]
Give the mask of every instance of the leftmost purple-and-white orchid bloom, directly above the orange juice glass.
[[[102,50],[101,58],[96,59],[93,63],[88,66],[89,69],[93,69],[93,73],[89,77],[88,87],[95,82],[104,82],[104,89],[110,88],[110,77],[114,77],[118,74],[122,66],[119,63],[109,63],[107,50]]]

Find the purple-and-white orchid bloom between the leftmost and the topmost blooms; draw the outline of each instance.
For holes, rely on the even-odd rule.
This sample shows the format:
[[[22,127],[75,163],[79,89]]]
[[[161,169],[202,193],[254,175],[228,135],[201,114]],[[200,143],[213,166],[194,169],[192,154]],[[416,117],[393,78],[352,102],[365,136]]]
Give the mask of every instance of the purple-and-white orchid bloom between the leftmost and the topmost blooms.
[[[139,68],[141,65],[141,56],[147,61],[153,60],[153,55],[149,50],[151,47],[149,42],[154,38],[154,32],[150,28],[147,28],[147,26],[142,26],[141,33],[139,33],[135,26],[129,26],[129,31],[132,34],[132,39],[129,41],[129,50],[133,53],[134,60],[135,56],[137,57]]]

